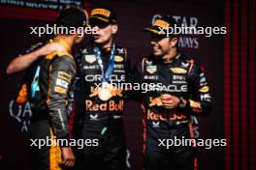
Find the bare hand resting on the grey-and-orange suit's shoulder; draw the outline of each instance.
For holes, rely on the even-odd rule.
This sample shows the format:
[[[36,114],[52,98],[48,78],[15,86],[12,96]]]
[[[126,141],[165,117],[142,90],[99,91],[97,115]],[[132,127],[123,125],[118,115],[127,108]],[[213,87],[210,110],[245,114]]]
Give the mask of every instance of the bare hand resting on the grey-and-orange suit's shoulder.
[[[36,52],[39,56],[46,56],[54,51],[64,51],[65,48],[57,42],[49,42],[45,46],[39,48]]]

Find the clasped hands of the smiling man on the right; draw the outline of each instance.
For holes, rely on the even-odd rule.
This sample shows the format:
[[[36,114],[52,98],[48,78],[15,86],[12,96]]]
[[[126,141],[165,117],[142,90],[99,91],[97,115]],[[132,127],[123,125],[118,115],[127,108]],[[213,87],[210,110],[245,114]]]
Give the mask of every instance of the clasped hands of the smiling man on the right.
[[[175,96],[169,95],[169,94],[161,95],[161,100],[163,103],[163,107],[165,107],[167,109],[176,108],[179,103],[178,98],[176,98]]]

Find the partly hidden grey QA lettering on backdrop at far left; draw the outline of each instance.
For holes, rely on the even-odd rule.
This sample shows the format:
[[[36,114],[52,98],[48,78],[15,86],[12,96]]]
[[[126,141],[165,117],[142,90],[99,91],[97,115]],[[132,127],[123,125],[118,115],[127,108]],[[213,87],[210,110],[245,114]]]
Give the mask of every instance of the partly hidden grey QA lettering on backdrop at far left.
[[[9,113],[20,125],[20,131],[27,131],[27,126],[30,124],[32,116],[29,102],[16,104],[15,100],[11,100],[9,103]]]

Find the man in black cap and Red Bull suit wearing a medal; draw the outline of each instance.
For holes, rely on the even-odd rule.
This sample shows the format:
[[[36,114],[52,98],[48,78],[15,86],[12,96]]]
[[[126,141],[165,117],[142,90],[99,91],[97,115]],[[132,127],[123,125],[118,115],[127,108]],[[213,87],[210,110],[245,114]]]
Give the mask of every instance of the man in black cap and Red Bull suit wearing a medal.
[[[76,55],[79,80],[75,92],[74,135],[96,139],[99,145],[78,150],[79,169],[123,170],[126,158],[122,121],[124,91],[112,84],[128,80],[130,61],[126,49],[114,43],[118,26],[111,9],[94,8],[89,24],[97,33]]]

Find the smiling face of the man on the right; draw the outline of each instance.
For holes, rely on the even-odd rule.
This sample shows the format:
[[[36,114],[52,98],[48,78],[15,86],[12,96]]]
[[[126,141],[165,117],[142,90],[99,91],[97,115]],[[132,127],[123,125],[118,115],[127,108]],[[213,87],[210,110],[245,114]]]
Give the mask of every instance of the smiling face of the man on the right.
[[[151,46],[155,56],[164,56],[168,54],[174,46],[176,46],[176,38],[168,38],[164,36],[151,35]]]

